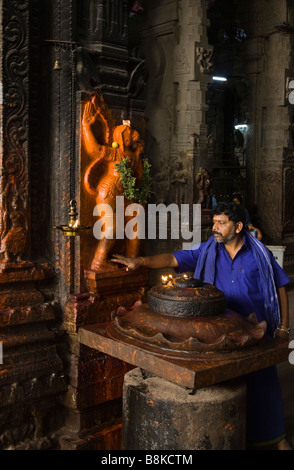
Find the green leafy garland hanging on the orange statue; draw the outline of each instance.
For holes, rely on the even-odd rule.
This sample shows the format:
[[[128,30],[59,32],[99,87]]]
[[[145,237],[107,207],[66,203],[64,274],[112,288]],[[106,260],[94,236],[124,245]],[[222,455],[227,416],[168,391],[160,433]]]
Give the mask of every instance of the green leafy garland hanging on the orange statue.
[[[124,188],[124,196],[132,202],[144,204],[147,202],[148,197],[151,193],[151,176],[150,167],[146,157],[142,159],[143,172],[142,180],[138,186],[136,186],[137,178],[132,175],[130,168],[130,159],[128,157],[116,163],[115,166],[120,173],[120,182]]]

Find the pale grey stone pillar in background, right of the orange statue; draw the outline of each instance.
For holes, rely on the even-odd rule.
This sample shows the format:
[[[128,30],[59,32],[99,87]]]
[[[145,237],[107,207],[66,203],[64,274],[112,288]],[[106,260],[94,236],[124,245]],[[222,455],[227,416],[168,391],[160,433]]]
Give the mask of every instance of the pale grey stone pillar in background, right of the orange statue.
[[[148,70],[146,147],[154,191],[157,179],[169,185],[169,194],[160,194],[166,203],[192,206],[198,199],[195,177],[199,167],[212,169],[205,119],[206,90],[212,74],[207,8],[208,2],[202,0],[153,2],[143,31]],[[179,166],[182,178],[176,188]],[[152,242],[150,251],[180,249],[182,243],[182,239],[160,240]]]

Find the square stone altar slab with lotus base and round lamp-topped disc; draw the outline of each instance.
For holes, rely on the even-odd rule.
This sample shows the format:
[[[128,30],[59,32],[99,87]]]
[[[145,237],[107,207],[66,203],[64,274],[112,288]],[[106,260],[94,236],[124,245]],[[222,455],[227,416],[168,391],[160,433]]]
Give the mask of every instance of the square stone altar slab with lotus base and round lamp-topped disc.
[[[199,282],[180,277],[156,286],[147,304],[80,328],[79,340],[192,389],[286,359],[287,344],[266,337],[265,322],[225,311],[222,292]]]

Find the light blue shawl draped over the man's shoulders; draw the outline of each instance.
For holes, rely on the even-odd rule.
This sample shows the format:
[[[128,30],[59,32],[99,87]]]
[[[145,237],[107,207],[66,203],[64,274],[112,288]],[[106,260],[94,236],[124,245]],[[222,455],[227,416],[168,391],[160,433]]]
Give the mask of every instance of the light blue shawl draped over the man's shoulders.
[[[267,321],[268,332],[273,334],[275,329],[280,325],[281,320],[279,299],[269,250],[263,243],[249,233],[245,232],[244,236],[246,238],[246,244],[253,253],[259,270],[264,297],[265,320]],[[196,279],[214,284],[217,245],[217,242],[214,241],[214,237],[212,236],[203,246],[195,269],[194,276]]]

